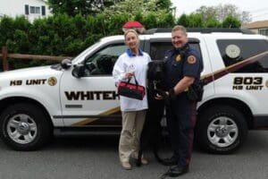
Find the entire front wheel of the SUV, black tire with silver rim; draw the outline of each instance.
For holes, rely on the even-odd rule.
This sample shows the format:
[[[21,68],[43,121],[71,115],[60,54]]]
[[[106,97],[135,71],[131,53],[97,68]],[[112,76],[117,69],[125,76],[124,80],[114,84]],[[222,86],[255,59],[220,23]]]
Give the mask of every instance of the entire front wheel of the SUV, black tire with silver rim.
[[[20,103],[4,109],[0,115],[0,135],[15,150],[39,149],[49,141],[52,126],[40,107]]]

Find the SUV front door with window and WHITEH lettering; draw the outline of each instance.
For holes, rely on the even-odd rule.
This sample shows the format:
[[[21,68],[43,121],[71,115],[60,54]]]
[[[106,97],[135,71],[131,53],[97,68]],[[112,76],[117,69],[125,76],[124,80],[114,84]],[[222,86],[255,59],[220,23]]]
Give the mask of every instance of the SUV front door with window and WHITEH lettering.
[[[119,98],[113,81],[113,64],[126,46],[123,41],[102,45],[87,55],[82,77],[63,73],[60,96],[65,126],[121,125]]]

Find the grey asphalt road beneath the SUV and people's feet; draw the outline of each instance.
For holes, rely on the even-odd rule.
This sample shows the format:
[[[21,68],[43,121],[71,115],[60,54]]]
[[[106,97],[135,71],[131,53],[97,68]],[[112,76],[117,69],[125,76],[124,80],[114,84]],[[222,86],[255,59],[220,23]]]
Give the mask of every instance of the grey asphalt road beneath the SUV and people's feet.
[[[168,167],[156,163],[150,150],[148,166],[121,168],[118,137],[56,138],[38,151],[13,151],[0,141],[1,179],[156,179]],[[190,172],[183,179],[268,178],[268,132],[249,132],[232,155],[211,155],[194,149]]]

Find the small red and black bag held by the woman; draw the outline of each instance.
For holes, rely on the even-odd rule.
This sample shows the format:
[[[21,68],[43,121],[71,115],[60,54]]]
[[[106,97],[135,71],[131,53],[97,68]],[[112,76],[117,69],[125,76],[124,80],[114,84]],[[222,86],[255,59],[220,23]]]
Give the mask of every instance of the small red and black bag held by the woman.
[[[138,100],[142,100],[145,96],[145,87],[138,85],[138,81],[134,76],[135,83],[130,83],[129,81],[121,81],[118,85],[118,94],[123,97],[128,98],[136,98]]]

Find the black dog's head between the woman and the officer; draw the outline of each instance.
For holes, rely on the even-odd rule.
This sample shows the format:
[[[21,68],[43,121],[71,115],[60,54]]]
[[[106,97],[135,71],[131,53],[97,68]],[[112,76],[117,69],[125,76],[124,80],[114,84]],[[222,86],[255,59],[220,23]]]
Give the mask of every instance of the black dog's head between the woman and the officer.
[[[148,64],[147,78],[149,81],[163,81],[164,62],[155,60]]]

